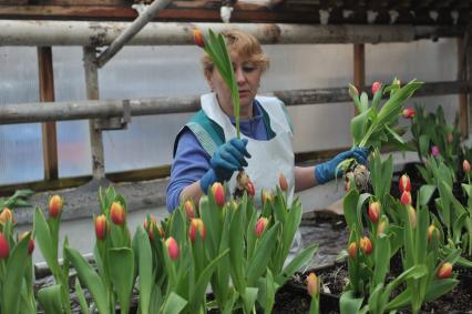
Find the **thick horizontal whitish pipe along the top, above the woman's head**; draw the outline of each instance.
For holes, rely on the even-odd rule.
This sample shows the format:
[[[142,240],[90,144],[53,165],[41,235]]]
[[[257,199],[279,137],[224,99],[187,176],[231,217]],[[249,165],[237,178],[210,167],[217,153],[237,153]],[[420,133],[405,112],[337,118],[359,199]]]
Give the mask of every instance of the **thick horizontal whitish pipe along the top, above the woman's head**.
[[[131,23],[91,21],[0,20],[0,45],[110,45]],[[462,27],[314,26],[287,23],[147,23],[129,45],[193,44],[192,30],[238,28],[261,43],[378,43],[419,38],[455,37]]]

